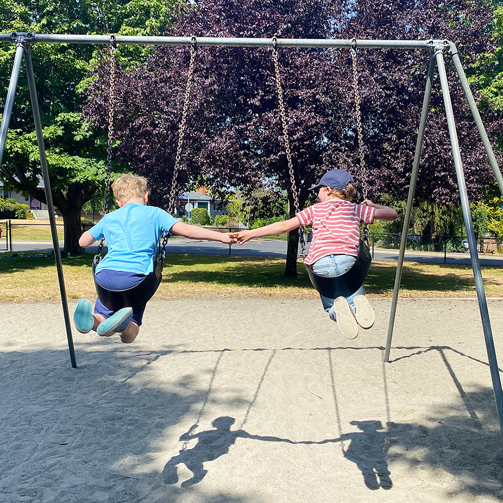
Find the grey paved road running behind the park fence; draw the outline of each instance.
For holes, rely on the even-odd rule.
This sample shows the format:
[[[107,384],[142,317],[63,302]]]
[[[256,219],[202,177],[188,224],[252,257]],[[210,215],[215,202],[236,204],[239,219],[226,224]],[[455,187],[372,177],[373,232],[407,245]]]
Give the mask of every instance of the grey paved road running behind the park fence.
[[[2,244],[5,243],[0,243],[0,250]],[[59,245],[63,246],[62,240],[59,241]],[[254,239],[242,245],[234,244],[229,247],[227,244],[215,241],[173,237],[166,244],[166,254],[255,256],[284,259],[286,258],[286,248],[287,242],[280,239]],[[39,253],[43,253],[51,249],[52,243],[49,241],[13,241],[13,253],[22,253],[26,250],[37,250]],[[96,251],[96,249],[96,246],[87,248],[88,251]],[[398,250],[374,248],[373,258],[376,261],[397,262]],[[501,255],[479,255],[479,259],[482,266],[503,266],[503,256]],[[406,250],[405,261],[444,264],[444,254],[433,251]],[[445,257],[445,263],[470,265],[471,259],[468,251],[465,253],[448,253]]]

